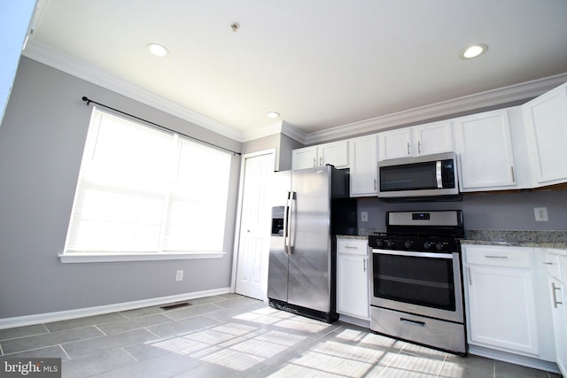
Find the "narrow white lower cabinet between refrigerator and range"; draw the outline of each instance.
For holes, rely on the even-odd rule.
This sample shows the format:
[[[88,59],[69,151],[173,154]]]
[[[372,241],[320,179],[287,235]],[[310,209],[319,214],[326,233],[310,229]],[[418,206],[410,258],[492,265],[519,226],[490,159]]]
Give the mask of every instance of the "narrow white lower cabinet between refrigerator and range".
[[[337,239],[337,312],[369,320],[369,247],[365,239]]]

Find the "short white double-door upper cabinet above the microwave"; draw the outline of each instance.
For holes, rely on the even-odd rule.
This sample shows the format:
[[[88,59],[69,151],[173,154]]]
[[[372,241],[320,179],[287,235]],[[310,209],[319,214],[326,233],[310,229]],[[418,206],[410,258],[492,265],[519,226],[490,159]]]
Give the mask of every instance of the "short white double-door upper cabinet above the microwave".
[[[378,134],[379,160],[416,157],[453,150],[450,121],[405,127]]]

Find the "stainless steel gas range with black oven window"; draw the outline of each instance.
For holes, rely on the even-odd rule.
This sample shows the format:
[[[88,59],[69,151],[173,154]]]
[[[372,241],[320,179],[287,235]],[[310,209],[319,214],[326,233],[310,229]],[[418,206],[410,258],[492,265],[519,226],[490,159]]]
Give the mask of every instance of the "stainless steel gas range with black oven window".
[[[460,210],[386,213],[386,233],[369,235],[372,330],[466,354],[463,236]]]

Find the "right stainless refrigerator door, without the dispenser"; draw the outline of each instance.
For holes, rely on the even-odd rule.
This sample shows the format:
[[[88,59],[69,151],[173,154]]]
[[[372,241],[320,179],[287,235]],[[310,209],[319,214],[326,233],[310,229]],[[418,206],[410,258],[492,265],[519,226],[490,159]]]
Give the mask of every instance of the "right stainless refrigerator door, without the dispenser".
[[[331,311],[330,166],[293,171],[288,302]]]

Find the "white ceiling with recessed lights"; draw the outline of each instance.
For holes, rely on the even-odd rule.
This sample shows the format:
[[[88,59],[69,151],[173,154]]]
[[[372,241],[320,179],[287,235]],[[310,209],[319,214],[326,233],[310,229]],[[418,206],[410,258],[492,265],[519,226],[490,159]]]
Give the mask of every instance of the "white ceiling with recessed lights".
[[[567,73],[565,0],[41,0],[34,27],[29,49],[237,133],[315,133]],[[485,55],[459,58],[475,42]]]

